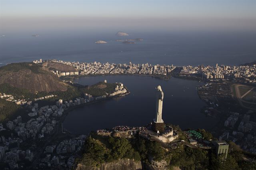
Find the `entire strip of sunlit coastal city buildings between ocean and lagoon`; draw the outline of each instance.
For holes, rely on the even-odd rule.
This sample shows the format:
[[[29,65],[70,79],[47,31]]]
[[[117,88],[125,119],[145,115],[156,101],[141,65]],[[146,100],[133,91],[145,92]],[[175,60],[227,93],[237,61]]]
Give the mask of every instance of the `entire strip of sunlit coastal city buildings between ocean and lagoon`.
[[[33,61],[34,63],[42,63],[42,59]],[[139,75],[167,75],[171,73],[177,66],[173,65],[151,65],[151,64],[110,64],[110,63],[79,63],[70,61],[51,60],[50,62],[62,63],[72,66],[78,71],[63,72],[52,70],[58,76],[68,75],[97,75],[97,74],[139,74]],[[199,75],[202,79],[235,79],[241,83],[256,83],[256,64],[228,66],[216,64],[213,66],[182,66],[179,72],[181,76]]]

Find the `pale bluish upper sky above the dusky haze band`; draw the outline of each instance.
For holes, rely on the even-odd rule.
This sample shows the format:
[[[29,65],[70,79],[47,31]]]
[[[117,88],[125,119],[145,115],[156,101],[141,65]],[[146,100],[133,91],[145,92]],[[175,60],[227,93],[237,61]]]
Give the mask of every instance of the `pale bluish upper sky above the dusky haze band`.
[[[1,0],[1,16],[255,18],[255,0]]]

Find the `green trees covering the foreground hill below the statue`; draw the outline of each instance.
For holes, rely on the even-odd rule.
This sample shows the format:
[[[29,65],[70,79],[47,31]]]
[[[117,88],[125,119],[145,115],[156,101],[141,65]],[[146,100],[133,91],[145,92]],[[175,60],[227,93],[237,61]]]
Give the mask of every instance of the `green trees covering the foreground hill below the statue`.
[[[208,132],[207,132],[208,133]],[[209,133],[207,134],[209,135]],[[139,136],[126,139],[111,136],[99,136],[91,133],[86,139],[82,156],[76,163],[87,169],[102,167],[103,164],[118,160],[130,159],[141,161],[144,167],[154,169],[152,160],[166,162],[166,169],[180,167],[182,170],[208,169],[208,170],[248,170],[255,169],[256,164],[243,160],[244,152],[234,142],[229,143],[228,157],[222,161],[216,156],[214,149],[204,150],[190,148],[177,143],[172,150],[162,148],[160,143],[146,140]]]

